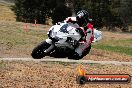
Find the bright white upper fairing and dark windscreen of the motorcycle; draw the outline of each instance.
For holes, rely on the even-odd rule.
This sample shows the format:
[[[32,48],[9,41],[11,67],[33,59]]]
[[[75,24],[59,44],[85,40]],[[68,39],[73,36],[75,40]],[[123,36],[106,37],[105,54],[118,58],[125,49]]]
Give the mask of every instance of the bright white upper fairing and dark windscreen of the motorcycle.
[[[76,32],[76,28],[78,25],[69,24],[69,23],[61,23],[59,25],[54,25],[50,28],[51,37],[52,38],[59,38],[60,41],[66,41],[67,37],[71,37],[74,40],[80,39],[80,34]]]

